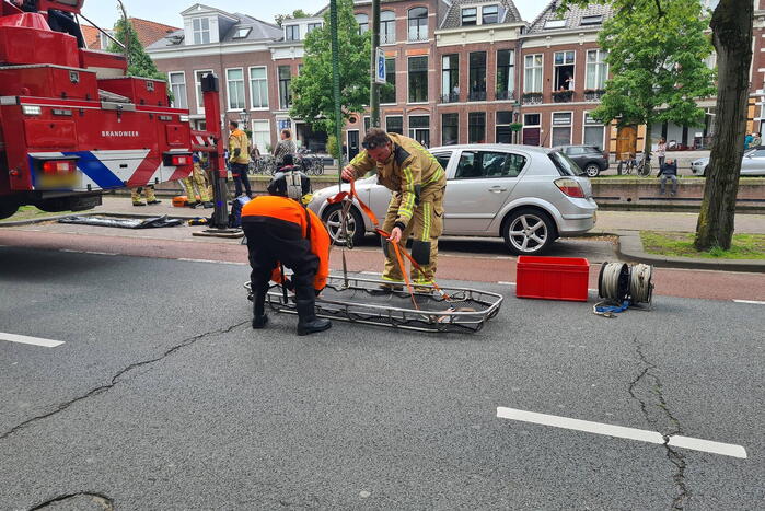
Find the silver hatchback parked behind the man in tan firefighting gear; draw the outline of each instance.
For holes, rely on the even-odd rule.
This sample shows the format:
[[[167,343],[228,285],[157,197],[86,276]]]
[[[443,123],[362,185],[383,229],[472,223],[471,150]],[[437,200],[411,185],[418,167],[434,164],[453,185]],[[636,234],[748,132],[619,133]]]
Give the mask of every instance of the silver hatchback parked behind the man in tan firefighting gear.
[[[598,205],[590,181],[577,175],[577,165],[558,151],[508,144],[429,151],[447,171],[444,235],[503,237],[513,254],[538,255],[557,237],[583,234],[595,225]],[[391,191],[378,184],[376,175],[359,179],[356,190],[382,222]],[[341,206],[327,202],[337,193],[337,186],[316,191],[309,208],[324,220],[335,242],[343,243]],[[355,206],[347,230],[360,242],[374,227]]]

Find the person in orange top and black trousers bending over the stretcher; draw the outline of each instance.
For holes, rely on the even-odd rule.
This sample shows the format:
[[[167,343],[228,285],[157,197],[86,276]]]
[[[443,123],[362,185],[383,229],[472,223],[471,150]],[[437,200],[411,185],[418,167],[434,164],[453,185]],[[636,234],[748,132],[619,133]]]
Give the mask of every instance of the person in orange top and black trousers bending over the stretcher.
[[[326,330],[332,323],[316,317],[315,300],[329,276],[329,233],[301,202],[311,193],[311,182],[302,172],[278,172],[268,193],[242,208],[252,267],[253,328],[268,323],[266,293],[274,280],[294,289],[298,335]],[[292,269],[291,281],[282,281],[282,265]]]

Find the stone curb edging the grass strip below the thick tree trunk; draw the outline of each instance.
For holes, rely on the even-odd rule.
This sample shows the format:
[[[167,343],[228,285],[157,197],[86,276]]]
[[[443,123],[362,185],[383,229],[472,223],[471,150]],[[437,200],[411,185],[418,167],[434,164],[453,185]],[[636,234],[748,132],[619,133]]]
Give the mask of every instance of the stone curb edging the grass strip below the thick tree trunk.
[[[708,269],[717,271],[745,271],[762,274],[765,272],[765,260],[754,259],[699,259],[689,257],[663,257],[656,254],[648,254],[642,249],[642,240],[639,231],[619,231],[616,254],[626,260],[635,263],[646,263],[661,268],[686,268],[686,269]]]

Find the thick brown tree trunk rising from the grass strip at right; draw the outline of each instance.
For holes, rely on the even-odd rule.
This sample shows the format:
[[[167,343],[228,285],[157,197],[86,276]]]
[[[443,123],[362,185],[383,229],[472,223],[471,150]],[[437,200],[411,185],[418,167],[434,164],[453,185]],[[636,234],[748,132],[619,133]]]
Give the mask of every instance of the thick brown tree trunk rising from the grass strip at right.
[[[717,50],[717,128],[711,147],[702,211],[696,224],[697,251],[730,248],[735,196],[743,156],[749,69],[752,62],[752,0],[720,0],[709,26]]]

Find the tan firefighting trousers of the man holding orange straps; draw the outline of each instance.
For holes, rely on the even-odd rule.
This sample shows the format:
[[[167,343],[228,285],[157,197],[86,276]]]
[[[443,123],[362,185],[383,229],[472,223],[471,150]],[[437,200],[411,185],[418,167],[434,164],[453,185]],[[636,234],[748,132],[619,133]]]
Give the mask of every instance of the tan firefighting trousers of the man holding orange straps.
[[[438,236],[443,232],[443,190],[444,187],[436,189],[426,189],[420,195],[419,204],[415,207],[412,220],[404,229],[402,234],[402,245],[412,236],[413,254],[429,254],[429,262],[420,264],[424,274],[419,272],[414,266],[410,269],[412,281],[415,284],[432,283],[436,278],[436,267],[438,263]],[[398,217],[398,208],[401,207],[401,194],[393,194],[391,202],[387,205],[387,213],[383,221],[382,229],[385,232],[391,232],[396,218]],[[417,244],[420,244],[417,246]],[[416,257],[415,257],[416,258]],[[404,260],[406,265],[406,260]],[[385,249],[385,269],[383,271],[383,280],[403,283],[405,268],[398,267],[396,254],[392,247]]]

